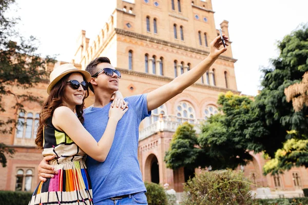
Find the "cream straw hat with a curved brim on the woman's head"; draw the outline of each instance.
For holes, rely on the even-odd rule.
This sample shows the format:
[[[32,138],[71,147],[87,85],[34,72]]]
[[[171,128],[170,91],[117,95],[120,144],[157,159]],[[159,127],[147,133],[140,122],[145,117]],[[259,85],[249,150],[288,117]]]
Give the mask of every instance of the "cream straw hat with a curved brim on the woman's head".
[[[53,86],[61,80],[62,77],[64,77],[68,73],[73,73],[73,72],[79,72],[83,74],[86,78],[86,81],[89,82],[91,79],[91,74],[88,71],[84,70],[79,70],[76,67],[74,67],[72,64],[63,64],[57,68],[55,68],[49,76],[50,84],[48,85],[47,88],[47,93],[49,94]]]

